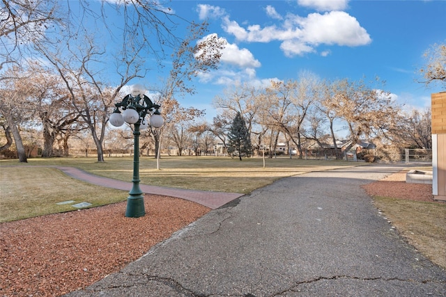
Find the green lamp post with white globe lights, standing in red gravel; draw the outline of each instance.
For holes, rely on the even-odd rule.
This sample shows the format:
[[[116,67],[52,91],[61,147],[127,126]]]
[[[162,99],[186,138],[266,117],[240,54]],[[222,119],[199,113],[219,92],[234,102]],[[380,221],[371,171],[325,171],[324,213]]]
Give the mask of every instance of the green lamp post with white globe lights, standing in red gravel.
[[[127,122],[134,124],[134,154],[133,154],[133,179],[132,189],[127,198],[127,209],[125,216],[128,218],[139,218],[144,216],[144,195],[139,187],[139,135],[140,129],[148,127],[146,115],[150,115],[150,125],[153,128],[160,128],[164,124],[164,119],[159,111],[160,105],[153,104],[151,99],[144,95],[144,89],[132,88],[132,93],[125,96],[122,102],[114,104],[116,108],[110,115],[109,122],[115,127],[120,127]],[[122,114],[121,114],[122,111]]]

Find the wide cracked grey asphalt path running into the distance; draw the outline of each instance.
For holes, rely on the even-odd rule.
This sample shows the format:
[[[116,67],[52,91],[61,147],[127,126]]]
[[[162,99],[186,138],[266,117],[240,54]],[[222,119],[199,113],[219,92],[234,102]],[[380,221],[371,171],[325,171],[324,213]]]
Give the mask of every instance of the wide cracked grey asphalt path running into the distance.
[[[446,296],[362,184],[404,165],[288,177],[208,214],[84,296]]]

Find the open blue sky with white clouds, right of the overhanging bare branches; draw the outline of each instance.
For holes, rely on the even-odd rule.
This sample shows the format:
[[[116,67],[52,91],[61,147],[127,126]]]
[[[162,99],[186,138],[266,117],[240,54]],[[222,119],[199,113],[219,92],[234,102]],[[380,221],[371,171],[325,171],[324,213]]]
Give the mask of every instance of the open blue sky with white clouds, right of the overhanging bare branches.
[[[430,105],[417,68],[434,43],[446,42],[446,1],[172,1],[188,20],[208,19],[208,33],[228,42],[220,69],[194,84],[183,106],[206,109],[235,81],[262,85],[298,79],[302,71],[321,79],[386,81],[385,90],[408,106]],[[143,81],[144,82],[144,81]]]

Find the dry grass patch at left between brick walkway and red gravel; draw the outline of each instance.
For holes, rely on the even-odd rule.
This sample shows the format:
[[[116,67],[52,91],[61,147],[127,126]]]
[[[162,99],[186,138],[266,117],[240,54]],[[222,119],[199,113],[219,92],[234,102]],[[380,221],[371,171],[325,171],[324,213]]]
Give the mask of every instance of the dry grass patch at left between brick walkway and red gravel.
[[[120,202],[128,192],[98,187],[68,177],[56,168],[18,166],[0,170],[0,222],[75,210],[71,204],[91,207]],[[56,204],[73,200],[71,204]]]

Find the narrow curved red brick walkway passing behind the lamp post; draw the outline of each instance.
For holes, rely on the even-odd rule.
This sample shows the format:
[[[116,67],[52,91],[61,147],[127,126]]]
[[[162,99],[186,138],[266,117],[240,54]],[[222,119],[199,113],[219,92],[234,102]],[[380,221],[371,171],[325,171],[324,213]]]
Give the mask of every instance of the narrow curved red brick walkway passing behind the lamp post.
[[[62,170],[75,179],[80,179],[90,184],[97,184],[98,186],[105,186],[107,188],[116,188],[118,190],[130,191],[132,188],[132,182],[123,182],[117,179],[110,179],[107,177],[100,177],[98,175],[92,175],[88,172],[80,170],[74,167],[57,166],[59,170]],[[224,192],[211,192],[211,191],[198,191],[187,190],[183,188],[167,188],[164,186],[150,186],[147,184],[139,184],[141,191],[146,194],[164,195],[175,198],[181,198],[193,202],[197,202],[201,205],[209,207],[210,209],[217,209],[222,205],[231,202],[232,200],[239,198],[245,194],[240,193],[224,193]]]

